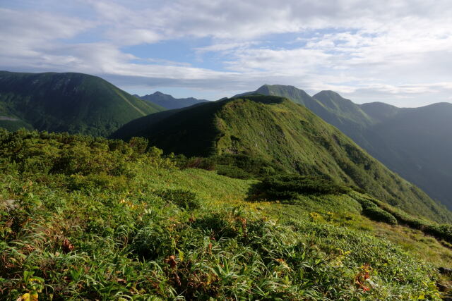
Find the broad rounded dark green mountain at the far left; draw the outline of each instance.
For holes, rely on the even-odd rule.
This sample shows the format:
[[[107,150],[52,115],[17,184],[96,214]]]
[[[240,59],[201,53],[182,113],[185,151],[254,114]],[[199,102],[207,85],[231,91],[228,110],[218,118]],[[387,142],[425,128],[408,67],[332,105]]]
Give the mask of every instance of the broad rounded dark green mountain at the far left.
[[[81,73],[0,72],[0,126],[109,135],[163,108]]]

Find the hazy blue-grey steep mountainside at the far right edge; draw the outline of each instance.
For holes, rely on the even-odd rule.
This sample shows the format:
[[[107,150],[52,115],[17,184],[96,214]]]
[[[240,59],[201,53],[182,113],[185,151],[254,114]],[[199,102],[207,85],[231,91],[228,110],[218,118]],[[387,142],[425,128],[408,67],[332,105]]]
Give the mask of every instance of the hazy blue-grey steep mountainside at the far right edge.
[[[452,208],[451,125],[452,104],[398,109],[371,128],[376,135],[366,138],[377,159]]]

